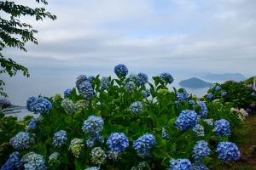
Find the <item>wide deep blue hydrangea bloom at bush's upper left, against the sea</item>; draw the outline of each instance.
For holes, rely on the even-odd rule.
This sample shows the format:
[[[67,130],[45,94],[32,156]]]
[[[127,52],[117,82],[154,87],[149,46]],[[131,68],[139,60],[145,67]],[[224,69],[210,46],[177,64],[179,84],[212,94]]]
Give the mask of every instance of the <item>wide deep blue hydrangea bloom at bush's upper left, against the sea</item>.
[[[32,96],[27,99],[26,108],[28,111],[34,112],[34,114],[49,114],[52,105],[48,99],[45,99],[43,97],[36,98]]]

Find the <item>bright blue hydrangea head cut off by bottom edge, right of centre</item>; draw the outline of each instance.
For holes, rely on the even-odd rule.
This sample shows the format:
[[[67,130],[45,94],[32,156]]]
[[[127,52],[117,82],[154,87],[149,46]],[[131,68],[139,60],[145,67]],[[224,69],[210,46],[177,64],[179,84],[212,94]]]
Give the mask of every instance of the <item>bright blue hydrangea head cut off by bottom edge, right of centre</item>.
[[[191,162],[188,159],[171,159],[169,170],[192,170]]]

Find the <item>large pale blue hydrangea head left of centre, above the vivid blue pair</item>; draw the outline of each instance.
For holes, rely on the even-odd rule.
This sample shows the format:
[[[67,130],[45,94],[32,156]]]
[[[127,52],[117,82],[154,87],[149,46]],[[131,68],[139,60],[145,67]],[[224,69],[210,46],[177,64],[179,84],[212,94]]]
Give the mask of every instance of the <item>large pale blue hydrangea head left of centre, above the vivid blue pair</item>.
[[[84,126],[82,127],[83,132],[95,134],[102,132],[103,129],[103,119],[100,116],[89,116],[87,120],[84,121]]]

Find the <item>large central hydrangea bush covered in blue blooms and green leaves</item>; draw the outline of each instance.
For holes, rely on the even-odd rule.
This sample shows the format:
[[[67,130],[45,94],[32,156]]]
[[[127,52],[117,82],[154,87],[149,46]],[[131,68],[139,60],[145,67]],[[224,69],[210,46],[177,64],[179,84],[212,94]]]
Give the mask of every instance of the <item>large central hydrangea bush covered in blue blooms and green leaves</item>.
[[[40,118],[9,136],[15,160],[25,169],[110,170],[211,169],[239,159],[228,143],[228,120],[211,119],[205,102],[189,99],[185,89],[168,89],[171,74],[150,83],[143,72],[127,76],[125,65],[113,72],[117,77],[80,75],[64,99],[29,98],[27,108]],[[6,166],[16,162],[10,157]]]

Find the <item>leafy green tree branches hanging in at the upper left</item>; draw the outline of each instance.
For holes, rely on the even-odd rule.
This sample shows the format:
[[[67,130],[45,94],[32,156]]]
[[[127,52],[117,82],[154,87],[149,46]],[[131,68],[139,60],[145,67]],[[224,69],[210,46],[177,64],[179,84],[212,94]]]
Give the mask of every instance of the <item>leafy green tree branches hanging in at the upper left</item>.
[[[48,3],[45,0],[36,0],[38,3]],[[15,4],[15,2],[1,1],[0,2],[0,11],[10,14],[10,20],[4,20],[0,17],[0,52],[3,48],[20,48],[26,52],[25,43],[30,41],[35,44],[38,44],[38,40],[34,37],[34,33],[38,33],[37,30],[33,30],[32,26],[26,23],[20,22],[17,18],[20,18],[20,15],[30,15],[35,16],[36,20],[43,20],[43,18],[48,17],[51,20],[56,20],[56,16],[45,12],[45,8],[29,8],[24,5]],[[18,38],[17,36],[20,36]],[[0,53],[0,63],[3,70],[0,70],[0,74],[8,73],[10,77],[16,75],[17,71],[22,71],[23,75],[29,77],[28,69],[17,64],[12,59],[4,58],[3,54]],[[0,86],[4,86],[5,83],[0,80]],[[3,88],[0,88],[0,95],[8,97],[7,94],[3,93]]]

